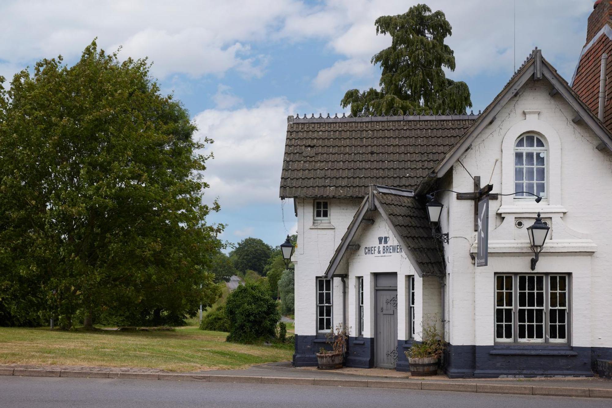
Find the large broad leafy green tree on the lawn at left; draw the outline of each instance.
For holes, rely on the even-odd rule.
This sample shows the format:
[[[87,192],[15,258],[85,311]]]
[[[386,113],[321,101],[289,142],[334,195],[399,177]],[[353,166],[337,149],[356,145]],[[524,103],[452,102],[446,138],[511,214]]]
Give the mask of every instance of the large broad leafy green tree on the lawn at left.
[[[2,90],[0,312],[14,321],[31,319],[20,299],[66,328],[181,319],[215,301],[207,267],[223,226],[206,223],[219,207],[203,204],[198,154],[212,140],[194,139],[149,67],[94,41],[72,67],[44,59]]]

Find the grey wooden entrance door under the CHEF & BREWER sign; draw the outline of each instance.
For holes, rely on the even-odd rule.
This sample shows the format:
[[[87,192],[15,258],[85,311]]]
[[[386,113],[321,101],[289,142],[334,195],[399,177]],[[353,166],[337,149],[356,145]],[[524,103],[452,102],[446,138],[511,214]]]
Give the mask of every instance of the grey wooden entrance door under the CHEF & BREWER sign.
[[[375,365],[395,368],[397,363],[397,290],[376,291]]]

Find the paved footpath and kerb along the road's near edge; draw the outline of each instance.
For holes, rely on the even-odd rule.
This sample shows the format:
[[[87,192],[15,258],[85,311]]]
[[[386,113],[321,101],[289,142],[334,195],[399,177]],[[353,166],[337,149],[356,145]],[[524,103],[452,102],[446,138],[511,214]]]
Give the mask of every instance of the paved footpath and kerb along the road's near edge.
[[[407,373],[397,373],[396,371],[381,369],[356,370],[345,368],[335,371],[318,371],[313,368],[293,368],[286,362],[257,365],[246,370],[198,371],[194,373],[169,373],[163,370],[146,368],[0,365],[0,376],[89,377],[185,382],[318,385],[328,387],[401,388],[405,390],[487,394],[612,398],[612,381],[597,378],[451,380],[445,376],[436,376],[431,379],[431,377],[410,377]]]

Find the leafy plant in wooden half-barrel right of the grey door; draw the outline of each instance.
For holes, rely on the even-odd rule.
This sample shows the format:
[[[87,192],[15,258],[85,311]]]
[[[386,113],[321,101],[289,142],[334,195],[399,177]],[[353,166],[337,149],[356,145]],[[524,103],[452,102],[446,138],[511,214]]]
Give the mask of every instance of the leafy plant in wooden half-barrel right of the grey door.
[[[410,365],[410,375],[416,377],[435,376],[438,374],[440,357],[444,354],[446,343],[438,332],[436,321],[427,319],[422,324],[422,340],[413,342],[411,348],[405,352]]]

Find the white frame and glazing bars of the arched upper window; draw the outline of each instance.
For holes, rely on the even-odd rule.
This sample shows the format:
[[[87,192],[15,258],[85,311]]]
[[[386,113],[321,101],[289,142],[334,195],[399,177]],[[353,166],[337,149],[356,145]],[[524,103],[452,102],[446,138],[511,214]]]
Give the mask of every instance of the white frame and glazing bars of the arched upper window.
[[[527,138],[528,137],[533,137],[534,138],[534,145],[533,147],[526,147],[526,143],[527,143]],[[517,144],[523,140],[523,146],[521,147],[517,147]],[[537,142],[540,141],[542,143],[542,146],[538,147],[537,146]],[[526,161],[526,155],[528,153],[533,153],[534,154],[534,162],[533,164],[527,164]],[[521,155],[521,159],[522,159],[522,163],[521,165],[517,165],[517,154]],[[537,159],[543,155],[543,164],[537,164]],[[541,158],[541,157],[540,157]],[[529,191],[529,185],[533,186],[533,192],[534,194],[537,194],[537,183],[543,183],[544,184],[544,192],[543,194],[540,194],[542,196],[543,199],[547,199],[548,198],[548,147],[546,144],[546,140],[534,133],[524,133],[521,134],[521,136],[517,137],[517,140],[515,140],[514,142],[514,157],[513,157],[513,163],[514,163],[514,191],[518,192],[518,191]],[[518,168],[521,169],[521,180],[517,180],[517,170]],[[536,180],[537,178],[537,169],[542,169],[543,168],[543,180]],[[529,170],[533,171],[533,180],[527,180],[527,173],[529,172]],[[517,186],[517,184],[520,184],[520,186]],[[532,200],[534,198],[533,195],[530,194],[515,194],[514,198],[517,200],[524,200],[524,199],[529,199]]]

